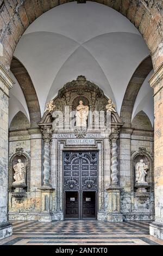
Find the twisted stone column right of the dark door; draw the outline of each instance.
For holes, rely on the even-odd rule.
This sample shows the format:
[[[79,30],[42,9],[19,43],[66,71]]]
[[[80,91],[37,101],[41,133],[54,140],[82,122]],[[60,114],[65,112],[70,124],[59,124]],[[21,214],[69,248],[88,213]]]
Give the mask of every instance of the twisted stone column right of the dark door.
[[[111,142],[111,185],[118,184],[118,153],[117,153],[117,140],[118,134],[111,134],[110,135],[110,142]]]

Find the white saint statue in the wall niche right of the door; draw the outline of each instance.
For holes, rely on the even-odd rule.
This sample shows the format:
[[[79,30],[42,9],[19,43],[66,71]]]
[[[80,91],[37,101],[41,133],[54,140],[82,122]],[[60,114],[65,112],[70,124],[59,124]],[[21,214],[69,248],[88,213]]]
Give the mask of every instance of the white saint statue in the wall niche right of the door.
[[[140,160],[139,163],[136,164],[136,182],[138,183],[146,183],[145,176],[147,174],[148,165],[146,165],[143,161],[143,159]]]

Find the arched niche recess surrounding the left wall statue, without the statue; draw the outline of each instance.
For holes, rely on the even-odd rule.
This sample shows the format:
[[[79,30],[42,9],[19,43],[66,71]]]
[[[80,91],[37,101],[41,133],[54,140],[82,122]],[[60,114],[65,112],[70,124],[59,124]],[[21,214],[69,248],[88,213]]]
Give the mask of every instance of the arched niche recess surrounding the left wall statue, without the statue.
[[[17,164],[18,159],[22,160],[22,163],[25,166],[26,173],[24,174],[25,183],[27,187],[25,188],[26,192],[30,191],[30,156],[28,153],[24,152],[22,147],[16,148],[16,152],[11,155],[9,160],[9,191],[13,192],[14,188],[12,187],[12,183],[14,180],[14,164]]]

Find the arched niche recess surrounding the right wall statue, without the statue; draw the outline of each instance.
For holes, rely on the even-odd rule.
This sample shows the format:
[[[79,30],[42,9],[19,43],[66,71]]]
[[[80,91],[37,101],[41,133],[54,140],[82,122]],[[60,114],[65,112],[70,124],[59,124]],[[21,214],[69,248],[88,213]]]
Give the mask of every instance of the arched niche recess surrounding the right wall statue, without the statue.
[[[153,157],[146,151],[145,147],[139,147],[139,150],[134,152],[131,156],[131,190],[136,192],[135,187],[135,171],[136,164],[143,159],[146,165],[148,165],[147,175],[145,177],[146,182],[149,184],[149,192],[153,191]]]

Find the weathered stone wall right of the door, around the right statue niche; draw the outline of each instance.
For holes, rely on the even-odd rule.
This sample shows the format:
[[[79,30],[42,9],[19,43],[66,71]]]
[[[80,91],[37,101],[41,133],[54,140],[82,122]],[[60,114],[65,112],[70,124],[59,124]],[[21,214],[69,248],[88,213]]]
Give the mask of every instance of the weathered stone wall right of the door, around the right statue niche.
[[[139,148],[146,148],[146,151],[153,157],[153,132],[145,130],[123,129],[120,134],[120,186],[121,212],[124,221],[149,221],[154,219],[154,188],[148,189],[147,199],[141,201],[134,188],[134,168],[132,155],[139,152]],[[151,180],[154,177],[154,168],[151,166]]]

